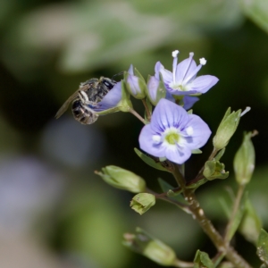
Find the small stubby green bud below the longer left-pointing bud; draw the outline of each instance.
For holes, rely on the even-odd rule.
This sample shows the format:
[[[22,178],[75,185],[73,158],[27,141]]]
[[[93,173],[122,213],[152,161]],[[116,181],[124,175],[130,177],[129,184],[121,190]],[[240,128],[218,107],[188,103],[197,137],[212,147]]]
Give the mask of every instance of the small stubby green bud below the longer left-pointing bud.
[[[140,215],[145,214],[153,205],[155,196],[147,193],[138,194],[130,201],[131,208]]]

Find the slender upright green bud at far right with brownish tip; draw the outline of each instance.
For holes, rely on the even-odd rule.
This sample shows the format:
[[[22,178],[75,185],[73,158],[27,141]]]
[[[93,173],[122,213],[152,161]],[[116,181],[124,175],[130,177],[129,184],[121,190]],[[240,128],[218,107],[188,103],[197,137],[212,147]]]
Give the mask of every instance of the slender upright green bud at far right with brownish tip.
[[[251,141],[252,132],[244,134],[242,145],[234,158],[234,171],[239,184],[247,184],[255,168],[255,150]]]

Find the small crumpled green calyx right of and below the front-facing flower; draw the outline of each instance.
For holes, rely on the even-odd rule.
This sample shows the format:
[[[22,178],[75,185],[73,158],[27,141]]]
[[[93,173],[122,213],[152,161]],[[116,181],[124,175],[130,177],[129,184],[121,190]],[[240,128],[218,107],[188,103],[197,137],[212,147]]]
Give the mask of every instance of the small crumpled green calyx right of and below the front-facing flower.
[[[207,180],[226,179],[229,176],[229,172],[225,172],[224,163],[219,161],[206,161],[203,175]]]

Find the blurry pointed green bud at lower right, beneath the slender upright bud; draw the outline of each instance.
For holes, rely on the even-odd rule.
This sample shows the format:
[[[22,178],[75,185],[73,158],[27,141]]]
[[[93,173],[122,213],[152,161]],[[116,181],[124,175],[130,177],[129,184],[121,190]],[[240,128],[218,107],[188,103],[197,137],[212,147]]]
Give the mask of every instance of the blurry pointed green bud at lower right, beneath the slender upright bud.
[[[254,206],[247,199],[245,213],[239,225],[239,232],[247,241],[256,244],[261,229],[262,222],[256,214]]]

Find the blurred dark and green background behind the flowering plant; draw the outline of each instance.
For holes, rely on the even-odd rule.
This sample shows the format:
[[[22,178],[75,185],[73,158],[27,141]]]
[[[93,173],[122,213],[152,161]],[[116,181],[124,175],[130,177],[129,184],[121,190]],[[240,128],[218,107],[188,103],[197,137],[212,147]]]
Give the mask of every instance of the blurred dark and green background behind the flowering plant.
[[[242,118],[222,158],[232,159],[244,130],[254,138],[256,172],[249,196],[268,227],[268,2],[267,0],[1,0],[0,9],[0,267],[158,267],[121,246],[122,233],[139,226],[191,261],[197,248],[215,249],[196,222],[158,202],[142,217],[130,210],[131,194],[110,188],[94,174],[114,164],[144,177],[174,184],[166,173],[142,163],[133,151],[142,125],[127,113],[83,126],[71,109],[54,114],[80,84],[112,77],[130,63],[147,78],[156,61],[172,69],[195,53],[207,63],[200,74],[220,81],[195,105],[215,132],[226,109],[252,110]],[[134,102],[143,113],[138,102]],[[187,163],[190,179],[205,162]],[[233,177],[197,191],[219,230],[226,218],[218,197]],[[258,264],[255,247],[239,235],[241,254]],[[255,263],[256,262],[256,263]]]

